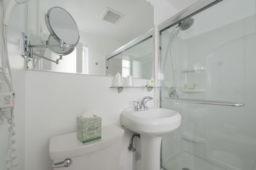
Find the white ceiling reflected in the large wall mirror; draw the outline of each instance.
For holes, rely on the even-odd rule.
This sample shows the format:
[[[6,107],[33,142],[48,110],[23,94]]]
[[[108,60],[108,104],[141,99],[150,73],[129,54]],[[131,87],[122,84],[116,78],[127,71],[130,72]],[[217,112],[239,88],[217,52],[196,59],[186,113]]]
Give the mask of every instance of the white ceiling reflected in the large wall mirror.
[[[30,0],[28,11],[39,8],[40,27],[48,33],[44,14],[49,8],[59,6],[67,10],[77,23],[80,31],[128,43],[153,28],[153,6],[145,0]],[[117,23],[100,19],[106,7],[125,16]],[[31,15],[29,15],[31,16]],[[37,23],[37,22],[34,22]]]

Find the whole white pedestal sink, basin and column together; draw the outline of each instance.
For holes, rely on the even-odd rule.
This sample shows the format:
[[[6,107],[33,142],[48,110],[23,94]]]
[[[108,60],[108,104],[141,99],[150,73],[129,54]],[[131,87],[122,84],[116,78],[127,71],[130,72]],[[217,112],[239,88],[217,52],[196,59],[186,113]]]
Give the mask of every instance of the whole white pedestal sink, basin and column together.
[[[134,111],[134,107],[121,112],[121,124],[140,134],[142,170],[160,170],[162,136],[180,126],[180,113],[163,108]]]

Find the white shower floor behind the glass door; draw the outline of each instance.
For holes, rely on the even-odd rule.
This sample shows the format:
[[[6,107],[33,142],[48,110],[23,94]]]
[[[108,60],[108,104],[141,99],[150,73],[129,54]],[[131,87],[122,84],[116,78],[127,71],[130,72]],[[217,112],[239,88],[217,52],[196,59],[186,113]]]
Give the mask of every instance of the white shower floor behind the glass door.
[[[225,170],[188,152],[163,160],[162,166],[166,170]]]

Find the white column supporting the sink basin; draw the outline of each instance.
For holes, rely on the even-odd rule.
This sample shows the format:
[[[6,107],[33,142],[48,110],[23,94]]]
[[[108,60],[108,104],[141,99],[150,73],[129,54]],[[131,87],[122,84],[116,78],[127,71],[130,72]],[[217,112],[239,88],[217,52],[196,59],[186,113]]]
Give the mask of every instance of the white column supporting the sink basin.
[[[142,170],[160,170],[162,137],[140,135]]]

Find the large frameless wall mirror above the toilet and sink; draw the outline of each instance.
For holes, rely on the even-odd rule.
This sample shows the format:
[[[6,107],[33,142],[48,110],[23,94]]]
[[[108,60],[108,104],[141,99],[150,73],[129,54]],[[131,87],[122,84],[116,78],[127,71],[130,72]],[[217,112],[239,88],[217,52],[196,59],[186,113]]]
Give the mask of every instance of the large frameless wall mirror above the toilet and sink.
[[[58,65],[34,56],[28,62],[29,69],[110,76],[116,71],[122,73],[122,62],[116,65],[116,70],[106,69],[108,61],[113,64],[115,60],[108,60],[108,56],[153,28],[153,6],[145,0],[30,0],[27,35],[32,44],[41,45],[48,39],[50,33],[45,24],[45,14],[54,6],[64,8],[72,15],[79,29],[79,43],[72,53],[63,56]],[[65,22],[64,17],[59,20]],[[130,62],[129,74],[137,75],[135,78],[150,78],[153,72],[153,52],[148,57],[150,51],[153,51],[152,38],[115,57],[123,64],[137,60]],[[53,60],[59,57],[48,48],[38,48],[34,52]],[[141,73],[141,63],[150,75]],[[140,69],[136,71],[135,68]]]

